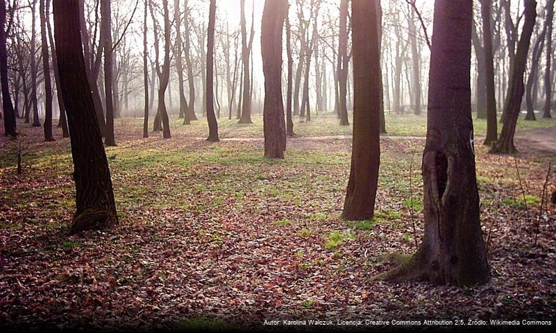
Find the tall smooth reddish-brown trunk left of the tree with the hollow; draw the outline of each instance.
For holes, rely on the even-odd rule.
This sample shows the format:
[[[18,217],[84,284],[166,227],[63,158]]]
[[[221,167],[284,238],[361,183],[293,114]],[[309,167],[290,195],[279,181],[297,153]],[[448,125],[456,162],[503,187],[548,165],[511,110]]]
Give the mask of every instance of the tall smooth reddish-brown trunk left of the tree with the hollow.
[[[343,217],[371,219],[380,166],[380,50],[377,0],[353,1],[353,148]]]

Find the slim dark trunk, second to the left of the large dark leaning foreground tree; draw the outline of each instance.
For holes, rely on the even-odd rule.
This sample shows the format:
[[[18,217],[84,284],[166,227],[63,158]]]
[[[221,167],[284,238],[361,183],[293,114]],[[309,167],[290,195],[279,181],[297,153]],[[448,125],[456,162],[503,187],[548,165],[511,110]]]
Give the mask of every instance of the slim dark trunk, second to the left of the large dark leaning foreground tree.
[[[52,136],[52,83],[50,79],[49,44],[47,42],[47,10],[45,1],[40,1],[40,39],[42,68],[44,75],[44,141],[55,141]]]

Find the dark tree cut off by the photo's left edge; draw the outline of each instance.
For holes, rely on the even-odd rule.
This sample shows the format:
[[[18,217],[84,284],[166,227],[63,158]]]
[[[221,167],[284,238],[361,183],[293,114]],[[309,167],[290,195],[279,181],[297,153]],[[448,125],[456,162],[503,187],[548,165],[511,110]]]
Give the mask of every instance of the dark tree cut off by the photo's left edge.
[[[2,86],[2,111],[4,135],[16,137],[15,110],[8,86],[8,52],[6,49],[6,0],[0,0],[0,79]]]

